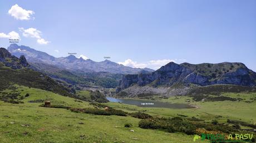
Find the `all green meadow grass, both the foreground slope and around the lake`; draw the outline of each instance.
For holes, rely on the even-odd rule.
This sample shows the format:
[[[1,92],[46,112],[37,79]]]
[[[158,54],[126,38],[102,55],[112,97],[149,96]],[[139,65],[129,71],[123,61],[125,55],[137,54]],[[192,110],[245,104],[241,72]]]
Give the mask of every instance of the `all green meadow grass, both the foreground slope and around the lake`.
[[[141,119],[131,116],[104,116],[74,113],[67,109],[44,108],[40,101],[50,100],[51,104],[71,106],[73,108],[93,108],[81,100],[61,96],[50,91],[17,86],[15,92],[25,96],[23,103],[12,104],[0,101],[0,141],[1,142],[193,142],[193,135],[169,133],[160,130],[141,129]],[[3,92],[13,92],[4,90]],[[2,94],[1,93],[1,94]],[[80,91],[88,96],[86,91]],[[227,119],[256,122],[255,93],[224,93],[224,96],[242,98],[241,101],[193,101],[189,96],[172,96],[160,100],[169,103],[187,103],[194,109],[142,108],[121,103],[105,103],[114,109],[133,113],[141,111],[155,117],[175,117],[179,115],[196,117],[205,122],[213,119],[227,123]],[[252,101],[252,102],[247,102]],[[131,127],[125,127],[130,123]],[[250,127],[242,126],[245,129]],[[134,130],[131,131],[131,130]],[[206,142],[199,141],[198,142]]]

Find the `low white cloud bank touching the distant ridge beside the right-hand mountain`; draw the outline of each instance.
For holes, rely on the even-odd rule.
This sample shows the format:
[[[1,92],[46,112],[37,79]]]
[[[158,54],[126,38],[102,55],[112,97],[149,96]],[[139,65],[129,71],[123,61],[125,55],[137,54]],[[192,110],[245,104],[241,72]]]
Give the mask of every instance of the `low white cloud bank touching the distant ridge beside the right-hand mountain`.
[[[185,61],[185,59],[150,60],[149,62],[146,62],[146,63],[137,63],[137,62],[132,61],[131,59],[127,59],[127,60],[125,60],[125,62],[118,62],[118,64],[122,64],[122,65],[132,67],[132,68],[151,68],[151,69],[157,70],[170,62],[180,63],[180,61]]]

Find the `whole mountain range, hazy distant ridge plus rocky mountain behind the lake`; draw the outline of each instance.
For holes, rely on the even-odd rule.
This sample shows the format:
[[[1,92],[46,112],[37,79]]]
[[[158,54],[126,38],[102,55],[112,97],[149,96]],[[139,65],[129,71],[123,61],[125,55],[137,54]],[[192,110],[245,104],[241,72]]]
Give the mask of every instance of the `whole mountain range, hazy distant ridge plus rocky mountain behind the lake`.
[[[93,88],[95,86],[116,88],[118,96],[184,95],[191,91],[196,93],[195,89],[202,87],[206,87],[207,90],[214,89],[214,91],[254,90],[256,86],[256,73],[243,63],[176,64],[170,62],[154,71],[147,68],[125,67],[110,60],[93,62],[73,55],[55,58],[47,53],[17,44],[11,44],[8,51],[10,54],[7,55],[16,59],[16,63],[21,64],[26,57],[30,64],[29,68],[45,73],[57,81],[61,80],[59,83],[65,81],[71,84],[67,84],[70,87],[82,89],[91,88],[91,85]],[[21,58],[18,59],[15,56]],[[13,66],[12,63],[7,62],[6,66],[13,69],[20,68],[19,64]]]

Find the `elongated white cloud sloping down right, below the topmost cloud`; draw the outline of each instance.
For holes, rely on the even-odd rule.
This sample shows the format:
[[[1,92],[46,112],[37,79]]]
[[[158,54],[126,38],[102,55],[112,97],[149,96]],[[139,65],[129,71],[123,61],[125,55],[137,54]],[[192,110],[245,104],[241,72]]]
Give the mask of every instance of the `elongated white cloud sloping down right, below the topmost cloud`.
[[[24,37],[32,37],[37,39],[38,44],[48,44],[50,41],[47,41],[41,37],[41,31],[37,30],[36,28],[19,28],[19,30],[22,32],[22,35]]]

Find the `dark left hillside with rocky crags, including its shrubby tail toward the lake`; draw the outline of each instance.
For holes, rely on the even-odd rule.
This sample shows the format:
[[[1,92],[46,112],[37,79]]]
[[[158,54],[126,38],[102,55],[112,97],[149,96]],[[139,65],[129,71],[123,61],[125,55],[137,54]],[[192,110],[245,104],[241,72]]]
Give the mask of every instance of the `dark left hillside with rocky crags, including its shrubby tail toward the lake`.
[[[38,72],[29,65],[24,55],[19,58],[12,55],[5,48],[0,48],[0,100],[9,103],[21,103],[17,101],[17,94],[12,93],[5,95],[1,92],[4,89],[15,89],[16,85],[27,86],[28,88],[37,88],[52,91],[63,96],[69,96],[84,101],[96,101],[99,103],[107,102],[105,95],[99,90],[88,91],[88,96],[82,96],[76,93],[74,86],[69,86],[59,82],[47,74]],[[28,94],[29,96],[29,94]]]

